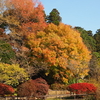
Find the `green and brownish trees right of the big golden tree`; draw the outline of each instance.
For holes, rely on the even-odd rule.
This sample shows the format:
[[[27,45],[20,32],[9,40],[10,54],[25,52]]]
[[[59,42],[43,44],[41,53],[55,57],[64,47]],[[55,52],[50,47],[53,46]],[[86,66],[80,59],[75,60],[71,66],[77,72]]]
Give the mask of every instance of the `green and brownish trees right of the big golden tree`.
[[[91,30],[75,27],[81,34],[84,44],[91,51],[92,58],[89,64],[89,76],[99,81],[100,76],[100,29],[93,34]]]

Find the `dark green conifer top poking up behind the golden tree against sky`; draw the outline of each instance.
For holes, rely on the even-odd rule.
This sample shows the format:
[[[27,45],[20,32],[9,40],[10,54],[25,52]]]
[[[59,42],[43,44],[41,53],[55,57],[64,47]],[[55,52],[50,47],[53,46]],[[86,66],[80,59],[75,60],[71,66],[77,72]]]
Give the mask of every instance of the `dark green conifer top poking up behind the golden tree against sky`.
[[[50,12],[50,15],[47,16],[47,22],[48,23],[54,23],[55,25],[59,25],[59,23],[61,22],[61,17],[59,16],[59,12],[57,9],[53,9]]]

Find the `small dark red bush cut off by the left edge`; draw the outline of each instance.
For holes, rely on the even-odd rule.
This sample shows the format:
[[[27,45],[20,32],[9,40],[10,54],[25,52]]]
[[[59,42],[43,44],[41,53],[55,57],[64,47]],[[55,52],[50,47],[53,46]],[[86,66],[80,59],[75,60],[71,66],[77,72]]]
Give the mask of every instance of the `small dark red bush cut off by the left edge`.
[[[13,87],[0,83],[0,95],[5,96],[5,95],[10,95],[13,94],[15,91]]]

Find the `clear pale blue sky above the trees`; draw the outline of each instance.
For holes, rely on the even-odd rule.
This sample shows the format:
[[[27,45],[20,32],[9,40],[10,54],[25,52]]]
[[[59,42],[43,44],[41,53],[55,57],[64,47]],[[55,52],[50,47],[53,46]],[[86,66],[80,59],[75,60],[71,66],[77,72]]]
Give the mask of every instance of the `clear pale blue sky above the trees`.
[[[100,0],[40,0],[46,15],[56,8],[62,22],[72,27],[79,26],[91,30],[100,29]]]

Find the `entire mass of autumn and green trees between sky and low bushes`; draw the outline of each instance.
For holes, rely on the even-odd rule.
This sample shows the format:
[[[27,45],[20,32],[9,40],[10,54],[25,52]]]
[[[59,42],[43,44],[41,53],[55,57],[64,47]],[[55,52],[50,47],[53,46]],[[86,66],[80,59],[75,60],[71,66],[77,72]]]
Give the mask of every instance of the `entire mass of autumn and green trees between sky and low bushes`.
[[[0,1],[1,2],[1,1]],[[100,29],[93,35],[61,23],[53,9],[32,0],[4,0],[0,5],[0,82],[17,87],[42,77],[51,88],[99,80]]]

